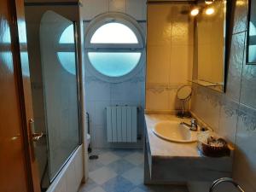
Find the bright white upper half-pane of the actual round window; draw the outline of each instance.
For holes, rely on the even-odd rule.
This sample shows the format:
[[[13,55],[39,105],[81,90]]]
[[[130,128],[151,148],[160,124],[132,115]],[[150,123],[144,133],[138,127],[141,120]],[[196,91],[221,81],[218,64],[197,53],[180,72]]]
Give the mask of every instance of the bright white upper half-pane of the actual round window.
[[[137,37],[128,26],[121,23],[108,23],[99,27],[93,34],[91,44],[138,44]]]

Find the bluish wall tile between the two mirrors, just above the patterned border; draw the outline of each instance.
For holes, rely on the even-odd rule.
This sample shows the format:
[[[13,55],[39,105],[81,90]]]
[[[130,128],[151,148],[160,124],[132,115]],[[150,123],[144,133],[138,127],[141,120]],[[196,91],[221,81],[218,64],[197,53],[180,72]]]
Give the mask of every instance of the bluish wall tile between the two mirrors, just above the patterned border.
[[[226,94],[236,102],[240,98],[241,71],[244,56],[245,32],[233,35]]]

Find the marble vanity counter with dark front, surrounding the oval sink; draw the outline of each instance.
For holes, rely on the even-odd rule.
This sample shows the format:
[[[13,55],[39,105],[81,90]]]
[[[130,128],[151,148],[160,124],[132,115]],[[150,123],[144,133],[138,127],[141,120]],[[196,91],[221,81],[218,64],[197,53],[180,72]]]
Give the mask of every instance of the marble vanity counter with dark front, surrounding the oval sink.
[[[145,114],[145,183],[212,182],[219,177],[231,176],[231,156],[207,157],[201,154],[197,143],[172,143],[157,137],[153,132],[154,125],[163,120],[189,123],[189,119],[178,119],[171,114]]]

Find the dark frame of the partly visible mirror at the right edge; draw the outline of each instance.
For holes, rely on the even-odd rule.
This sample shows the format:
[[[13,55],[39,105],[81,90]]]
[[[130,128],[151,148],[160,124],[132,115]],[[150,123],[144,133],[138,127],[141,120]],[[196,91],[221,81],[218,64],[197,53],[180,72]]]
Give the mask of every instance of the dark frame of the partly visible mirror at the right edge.
[[[246,64],[247,65],[256,65],[256,61],[250,62],[249,61],[249,43],[250,43],[250,21],[251,17],[254,14],[256,16],[256,11],[252,10],[252,1],[255,0],[248,0],[248,14],[247,14],[247,46],[246,46]],[[256,1],[254,2],[256,3]],[[255,44],[256,45],[256,44]]]

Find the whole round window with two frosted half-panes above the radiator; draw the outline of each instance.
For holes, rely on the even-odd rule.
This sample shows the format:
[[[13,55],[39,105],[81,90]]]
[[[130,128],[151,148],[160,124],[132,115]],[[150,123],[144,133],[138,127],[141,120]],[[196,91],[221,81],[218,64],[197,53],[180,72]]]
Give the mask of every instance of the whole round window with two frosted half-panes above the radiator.
[[[88,29],[85,55],[96,76],[108,81],[131,78],[144,51],[137,21],[120,14],[101,15]]]

